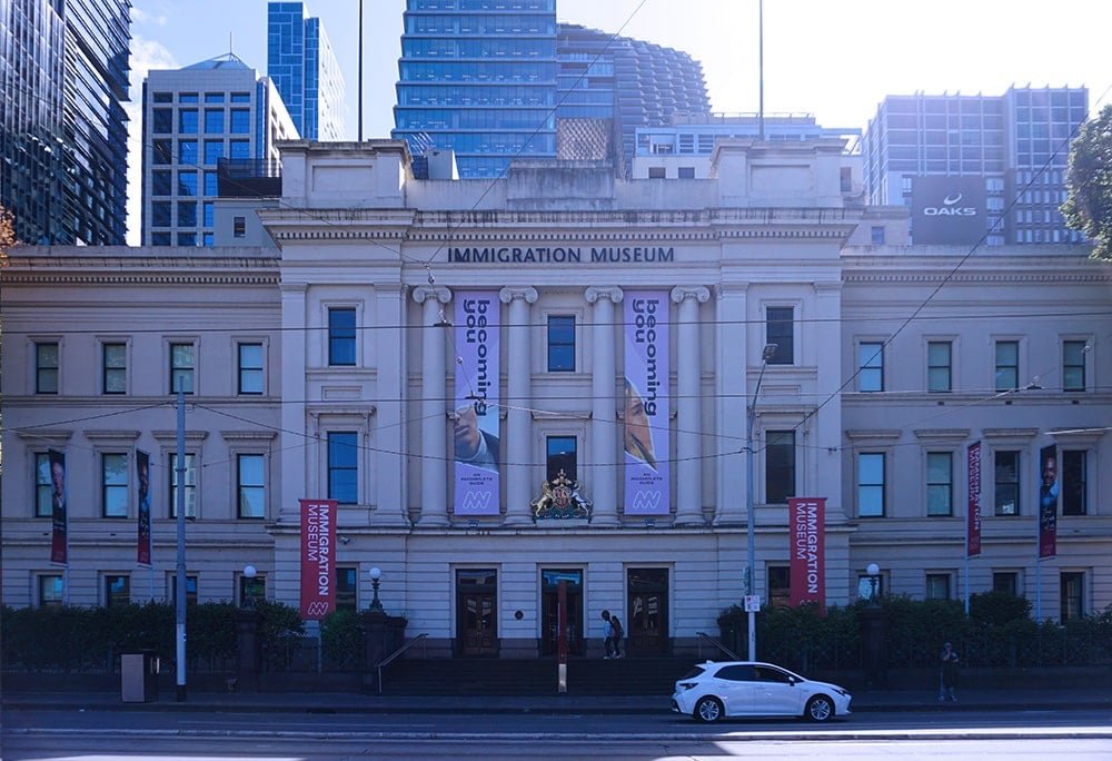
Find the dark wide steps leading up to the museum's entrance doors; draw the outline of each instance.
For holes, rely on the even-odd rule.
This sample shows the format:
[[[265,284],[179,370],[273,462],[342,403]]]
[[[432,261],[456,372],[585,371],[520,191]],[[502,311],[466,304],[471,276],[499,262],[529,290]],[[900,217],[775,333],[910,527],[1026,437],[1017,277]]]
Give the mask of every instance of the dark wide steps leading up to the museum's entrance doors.
[[[692,658],[574,659],[567,691],[576,695],[672,694]],[[445,659],[399,660],[383,674],[383,692],[395,695],[550,695],[557,692],[556,661]]]

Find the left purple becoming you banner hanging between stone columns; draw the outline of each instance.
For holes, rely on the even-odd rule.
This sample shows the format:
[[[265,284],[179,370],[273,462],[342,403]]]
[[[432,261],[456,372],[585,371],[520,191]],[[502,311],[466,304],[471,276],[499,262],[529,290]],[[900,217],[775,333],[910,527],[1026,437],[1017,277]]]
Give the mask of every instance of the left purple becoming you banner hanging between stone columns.
[[[497,515],[499,308],[496,290],[456,294],[456,515]]]

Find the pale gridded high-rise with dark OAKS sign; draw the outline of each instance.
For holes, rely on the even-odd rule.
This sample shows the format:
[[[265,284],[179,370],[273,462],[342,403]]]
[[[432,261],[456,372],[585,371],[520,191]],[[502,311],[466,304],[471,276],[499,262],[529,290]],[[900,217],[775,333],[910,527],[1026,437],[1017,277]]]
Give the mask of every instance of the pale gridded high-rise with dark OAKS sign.
[[[917,244],[1078,243],[1059,207],[1088,111],[1083,87],[887,96],[862,139],[868,199],[909,206]]]

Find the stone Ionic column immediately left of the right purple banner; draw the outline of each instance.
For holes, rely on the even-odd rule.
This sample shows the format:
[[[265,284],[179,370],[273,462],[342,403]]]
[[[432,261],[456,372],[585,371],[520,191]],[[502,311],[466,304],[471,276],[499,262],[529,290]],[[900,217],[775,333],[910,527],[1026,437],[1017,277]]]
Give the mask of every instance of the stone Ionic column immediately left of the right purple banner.
[[[586,492],[595,503],[592,524],[617,525],[618,474],[623,461],[618,446],[614,306],[622,303],[623,293],[620,288],[592,287],[584,297],[595,307],[590,335],[590,459],[597,465],[587,470],[590,482]]]

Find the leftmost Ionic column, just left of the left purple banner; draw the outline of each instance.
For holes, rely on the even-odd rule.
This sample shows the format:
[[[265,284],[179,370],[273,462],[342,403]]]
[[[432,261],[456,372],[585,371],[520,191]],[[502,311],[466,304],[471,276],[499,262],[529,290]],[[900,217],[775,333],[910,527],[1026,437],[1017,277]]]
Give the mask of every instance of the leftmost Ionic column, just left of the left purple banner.
[[[447,288],[414,288],[421,310],[420,382],[420,518],[423,526],[448,523],[448,424],[445,405],[445,330],[450,330],[444,305],[451,299]]]

